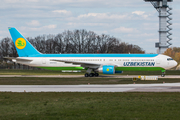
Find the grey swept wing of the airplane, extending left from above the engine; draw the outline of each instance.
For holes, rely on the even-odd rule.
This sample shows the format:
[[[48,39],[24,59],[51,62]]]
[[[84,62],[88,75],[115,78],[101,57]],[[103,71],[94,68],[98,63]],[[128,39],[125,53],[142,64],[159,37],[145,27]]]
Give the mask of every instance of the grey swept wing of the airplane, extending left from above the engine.
[[[67,64],[68,63],[73,64],[73,65],[81,65],[82,67],[92,68],[92,69],[97,69],[101,66],[101,64],[88,63],[88,62],[77,62],[77,61],[67,61],[67,60],[57,60],[57,59],[51,59],[50,61],[64,62]]]

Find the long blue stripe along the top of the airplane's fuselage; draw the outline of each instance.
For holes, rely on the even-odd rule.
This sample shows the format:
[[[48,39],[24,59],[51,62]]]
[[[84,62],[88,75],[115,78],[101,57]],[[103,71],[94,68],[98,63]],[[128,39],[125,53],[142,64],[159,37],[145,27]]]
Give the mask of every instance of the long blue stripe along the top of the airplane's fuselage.
[[[29,57],[156,57],[158,54],[38,54]]]

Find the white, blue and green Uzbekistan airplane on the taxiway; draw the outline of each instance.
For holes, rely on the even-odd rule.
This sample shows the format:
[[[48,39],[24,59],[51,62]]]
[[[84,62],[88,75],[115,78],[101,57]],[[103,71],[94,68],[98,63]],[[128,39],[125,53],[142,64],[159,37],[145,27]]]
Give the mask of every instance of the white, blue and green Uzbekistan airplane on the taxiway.
[[[48,70],[86,70],[85,77],[123,71],[162,71],[177,62],[162,54],[42,54],[14,27],[9,27],[19,57],[6,57],[15,63]]]

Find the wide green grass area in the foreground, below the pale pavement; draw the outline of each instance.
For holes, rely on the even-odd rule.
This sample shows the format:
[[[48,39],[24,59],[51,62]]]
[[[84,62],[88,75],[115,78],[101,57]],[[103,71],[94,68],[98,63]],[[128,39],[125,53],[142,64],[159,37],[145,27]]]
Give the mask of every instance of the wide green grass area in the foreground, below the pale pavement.
[[[179,120],[179,93],[0,93],[1,120]]]

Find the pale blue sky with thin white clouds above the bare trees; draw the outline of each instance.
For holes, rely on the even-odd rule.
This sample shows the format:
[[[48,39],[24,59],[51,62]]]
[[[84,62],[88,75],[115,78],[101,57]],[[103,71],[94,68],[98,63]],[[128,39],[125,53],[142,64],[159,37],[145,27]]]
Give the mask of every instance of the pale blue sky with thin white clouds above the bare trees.
[[[122,42],[157,53],[159,18],[144,0],[0,0],[0,40],[16,27],[25,37],[86,29],[107,34]],[[171,47],[180,47],[180,0],[169,3],[172,10]]]

